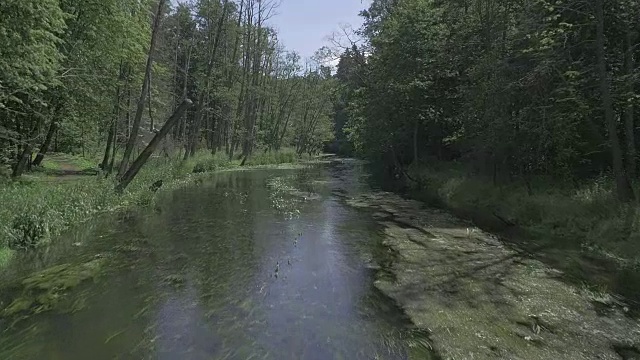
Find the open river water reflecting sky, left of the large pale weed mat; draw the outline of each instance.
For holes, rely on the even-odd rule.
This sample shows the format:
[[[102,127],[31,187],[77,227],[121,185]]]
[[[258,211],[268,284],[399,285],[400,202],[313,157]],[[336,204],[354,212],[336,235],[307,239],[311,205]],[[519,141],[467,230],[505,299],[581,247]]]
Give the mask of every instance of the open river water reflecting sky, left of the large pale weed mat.
[[[0,320],[0,359],[430,359],[373,286],[379,225],[344,203],[369,186],[346,160],[222,172],[83,224],[2,275],[101,264],[48,311]]]

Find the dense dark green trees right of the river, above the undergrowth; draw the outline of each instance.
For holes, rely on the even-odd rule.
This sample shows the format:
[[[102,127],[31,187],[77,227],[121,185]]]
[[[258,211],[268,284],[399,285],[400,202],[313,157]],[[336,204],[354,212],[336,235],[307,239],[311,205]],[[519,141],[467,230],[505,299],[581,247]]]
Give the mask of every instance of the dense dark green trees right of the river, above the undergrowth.
[[[341,54],[338,139],[494,184],[611,174],[634,198],[640,3],[374,0]]]

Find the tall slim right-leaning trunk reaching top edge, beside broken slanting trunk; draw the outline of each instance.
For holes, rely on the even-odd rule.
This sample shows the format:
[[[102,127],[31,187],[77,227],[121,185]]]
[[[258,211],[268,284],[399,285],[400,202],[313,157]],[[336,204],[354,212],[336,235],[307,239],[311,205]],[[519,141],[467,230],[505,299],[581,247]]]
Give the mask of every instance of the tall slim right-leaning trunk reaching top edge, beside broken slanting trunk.
[[[133,125],[131,127],[131,133],[129,134],[129,140],[124,149],[124,155],[122,156],[122,162],[118,169],[118,177],[124,174],[125,169],[129,163],[129,158],[133,152],[133,148],[138,141],[138,131],[140,130],[140,122],[142,121],[142,113],[144,112],[145,100],[147,93],[149,92],[151,70],[153,66],[153,51],[155,49],[156,41],[158,38],[160,20],[162,18],[162,9],[166,0],[158,1],[158,8],[156,10],[155,19],[153,20],[153,29],[151,31],[151,44],[149,46],[149,54],[147,55],[147,66],[144,71],[144,80],[142,81],[142,90],[140,91],[140,98],[138,99],[138,105],[136,108],[136,115],[133,118]]]

